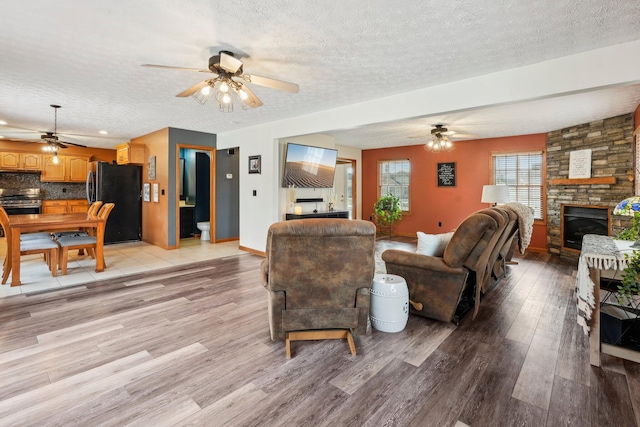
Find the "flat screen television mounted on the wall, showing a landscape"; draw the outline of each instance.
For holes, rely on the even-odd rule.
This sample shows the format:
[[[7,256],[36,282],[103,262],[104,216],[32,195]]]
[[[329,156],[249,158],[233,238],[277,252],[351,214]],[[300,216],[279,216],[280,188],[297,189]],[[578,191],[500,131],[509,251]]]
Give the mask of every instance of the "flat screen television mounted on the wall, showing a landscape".
[[[338,150],[288,143],[282,186],[332,188]]]

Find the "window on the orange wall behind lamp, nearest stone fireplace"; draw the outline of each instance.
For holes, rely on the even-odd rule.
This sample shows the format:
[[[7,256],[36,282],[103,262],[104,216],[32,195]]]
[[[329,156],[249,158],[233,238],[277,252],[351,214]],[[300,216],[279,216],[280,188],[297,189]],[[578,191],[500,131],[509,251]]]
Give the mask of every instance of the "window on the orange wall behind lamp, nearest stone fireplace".
[[[542,220],[542,151],[492,154],[492,181],[509,186],[509,199],[533,208]]]

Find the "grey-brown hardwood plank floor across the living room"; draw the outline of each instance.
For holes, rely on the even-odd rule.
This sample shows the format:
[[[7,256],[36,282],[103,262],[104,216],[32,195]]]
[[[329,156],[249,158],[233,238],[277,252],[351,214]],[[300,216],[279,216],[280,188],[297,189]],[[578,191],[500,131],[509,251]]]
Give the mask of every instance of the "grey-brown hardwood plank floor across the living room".
[[[571,261],[519,258],[457,327],[410,316],[356,337],[357,356],[301,341],[287,360],[261,260],[0,299],[0,425],[638,425],[640,365],[589,365]]]

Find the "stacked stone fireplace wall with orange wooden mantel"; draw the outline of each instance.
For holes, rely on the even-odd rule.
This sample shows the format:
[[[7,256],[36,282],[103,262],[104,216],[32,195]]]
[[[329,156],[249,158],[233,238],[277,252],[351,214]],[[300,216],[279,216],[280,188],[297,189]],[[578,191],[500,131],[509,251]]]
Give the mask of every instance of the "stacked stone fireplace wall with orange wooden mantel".
[[[563,245],[563,205],[599,207],[610,216],[609,232],[615,234],[630,217],[613,216],[613,208],[634,194],[633,114],[597,120],[547,134],[547,249],[575,258],[579,250]],[[569,153],[591,149],[591,177],[568,179]],[[574,245],[575,246],[575,245]]]

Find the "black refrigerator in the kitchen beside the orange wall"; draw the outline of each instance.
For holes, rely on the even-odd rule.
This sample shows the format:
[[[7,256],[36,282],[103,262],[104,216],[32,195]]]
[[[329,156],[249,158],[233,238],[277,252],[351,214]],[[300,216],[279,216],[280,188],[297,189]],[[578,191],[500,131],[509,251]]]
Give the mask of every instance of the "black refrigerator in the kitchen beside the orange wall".
[[[142,237],[142,167],[92,164],[87,176],[89,203],[115,203],[107,219],[104,243],[131,242]]]

